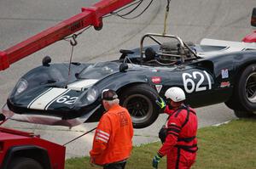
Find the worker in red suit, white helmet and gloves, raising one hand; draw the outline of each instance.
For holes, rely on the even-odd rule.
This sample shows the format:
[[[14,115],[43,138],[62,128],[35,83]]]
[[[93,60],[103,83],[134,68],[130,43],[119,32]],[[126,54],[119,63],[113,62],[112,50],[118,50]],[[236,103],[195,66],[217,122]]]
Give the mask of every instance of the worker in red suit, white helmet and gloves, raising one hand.
[[[197,117],[195,110],[183,104],[186,99],[183,89],[171,87],[166,90],[166,106],[163,99],[157,104],[169,115],[166,126],[160,130],[163,143],[153,159],[153,167],[157,168],[160,159],[167,155],[167,169],[189,169],[194,163],[197,150]]]

